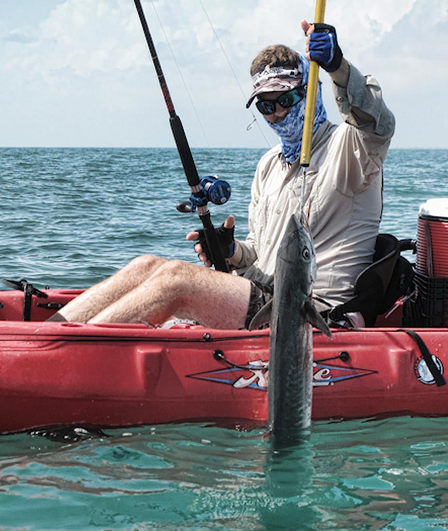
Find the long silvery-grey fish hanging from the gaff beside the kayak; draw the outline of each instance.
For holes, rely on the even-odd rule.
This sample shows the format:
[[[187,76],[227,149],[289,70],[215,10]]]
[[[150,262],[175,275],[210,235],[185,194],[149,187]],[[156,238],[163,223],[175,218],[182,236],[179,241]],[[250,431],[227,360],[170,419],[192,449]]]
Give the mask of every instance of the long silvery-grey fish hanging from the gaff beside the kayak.
[[[316,251],[306,219],[292,215],[277,252],[273,298],[249,324],[254,329],[270,321],[268,429],[278,441],[299,441],[311,426],[312,326],[331,338],[312,303],[316,276]]]

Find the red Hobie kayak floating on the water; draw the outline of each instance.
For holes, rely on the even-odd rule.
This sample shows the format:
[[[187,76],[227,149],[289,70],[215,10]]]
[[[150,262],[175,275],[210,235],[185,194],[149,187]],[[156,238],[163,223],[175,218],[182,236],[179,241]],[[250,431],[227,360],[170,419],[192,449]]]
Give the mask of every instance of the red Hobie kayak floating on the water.
[[[80,290],[43,293],[26,303],[19,290],[0,292],[0,433],[74,424],[266,423],[268,329],[44,322]],[[386,322],[392,319],[401,323],[401,311]],[[432,360],[443,380],[448,329],[415,331],[411,336],[392,322],[333,329],[331,340],[315,331],[313,418],[447,415],[448,386],[428,365]]]

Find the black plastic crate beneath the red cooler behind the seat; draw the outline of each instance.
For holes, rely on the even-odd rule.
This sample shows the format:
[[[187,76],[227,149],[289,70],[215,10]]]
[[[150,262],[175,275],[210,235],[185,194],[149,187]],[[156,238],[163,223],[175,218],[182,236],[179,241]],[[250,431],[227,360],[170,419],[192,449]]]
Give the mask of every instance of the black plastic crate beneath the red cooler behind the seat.
[[[403,326],[448,327],[448,278],[415,271],[415,293],[404,303]]]

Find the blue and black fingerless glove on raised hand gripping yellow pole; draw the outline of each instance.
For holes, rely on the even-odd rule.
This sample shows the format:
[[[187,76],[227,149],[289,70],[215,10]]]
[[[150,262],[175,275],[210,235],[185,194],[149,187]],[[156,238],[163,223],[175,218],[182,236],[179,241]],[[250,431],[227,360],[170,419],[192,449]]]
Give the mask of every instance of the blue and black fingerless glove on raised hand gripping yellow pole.
[[[314,31],[309,36],[309,58],[322,66],[327,72],[334,72],[341,66],[342,50],[334,26],[314,24]]]

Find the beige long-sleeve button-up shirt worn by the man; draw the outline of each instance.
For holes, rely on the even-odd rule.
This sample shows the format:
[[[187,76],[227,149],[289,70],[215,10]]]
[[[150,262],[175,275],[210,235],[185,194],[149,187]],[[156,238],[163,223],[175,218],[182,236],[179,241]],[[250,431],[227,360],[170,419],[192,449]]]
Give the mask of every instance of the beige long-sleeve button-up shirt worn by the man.
[[[331,304],[354,294],[359,273],[372,263],[382,213],[382,165],[395,120],[375,78],[350,65],[347,88],[333,83],[344,123],[324,122],[313,136],[306,168],[304,212],[316,247],[313,292]],[[358,108],[373,118],[362,123]],[[260,159],[252,183],[249,234],[239,242],[239,274],[272,282],[275,258],[292,213],[299,216],[304,170],[288,164],[280,144]]]

